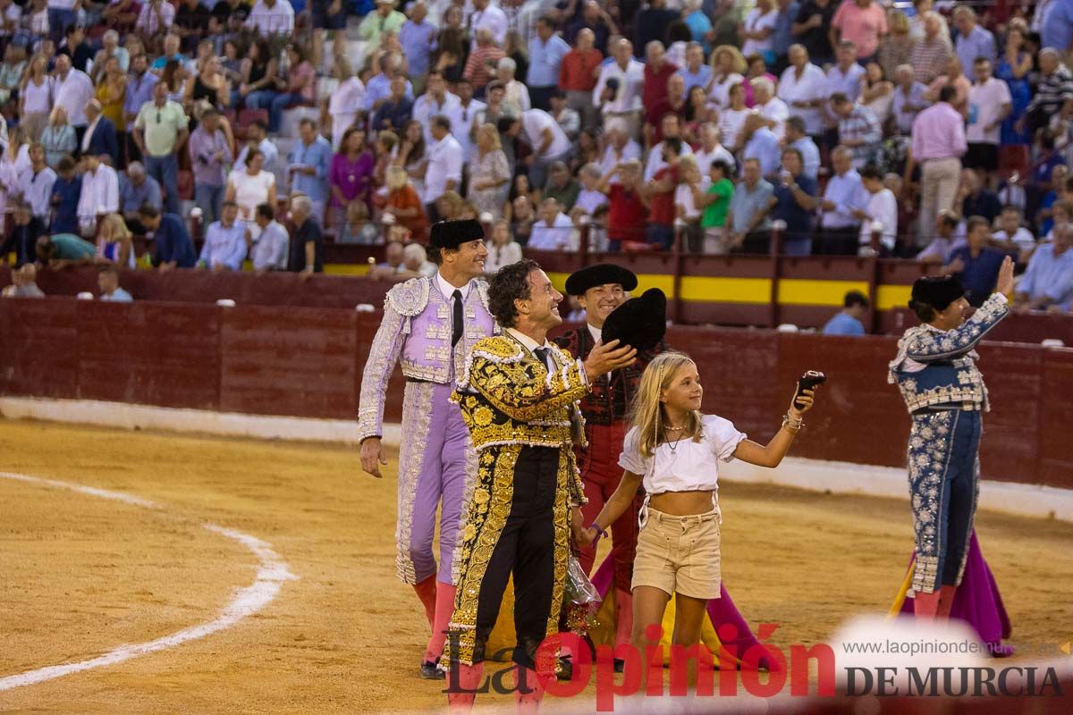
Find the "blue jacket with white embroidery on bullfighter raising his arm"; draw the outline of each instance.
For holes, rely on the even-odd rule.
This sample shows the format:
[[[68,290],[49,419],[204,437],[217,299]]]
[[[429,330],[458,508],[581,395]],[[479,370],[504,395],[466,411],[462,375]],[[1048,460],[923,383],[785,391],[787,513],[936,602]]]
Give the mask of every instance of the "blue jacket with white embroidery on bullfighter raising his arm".
[[[940,330],[918,325],[898,341],[888,383],[897,383],[910,413],[935,406],[987,409],[987,387],[976,369],[976,344],[1006,316],[1005,296],[994,294],[961,327]],[[913,362],[924,369],[912,370]]]

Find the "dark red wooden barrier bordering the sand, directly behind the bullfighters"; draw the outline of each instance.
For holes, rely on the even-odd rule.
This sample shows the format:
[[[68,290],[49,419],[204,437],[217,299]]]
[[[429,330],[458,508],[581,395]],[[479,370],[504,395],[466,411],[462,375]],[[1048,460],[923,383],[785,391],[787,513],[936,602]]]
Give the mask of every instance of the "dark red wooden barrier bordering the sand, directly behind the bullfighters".
[[[353,419],[379,326],[353,310],[0,300],[0,394],[92,399],[258,415]],[[887,337],[674,327],[701,366],[704,408],[766,441],[802,371],[829,376],[794,453],[900,466],[909,417],[886,383]],[[985,476],[1073,488],[1073,349],[985,343],[993,412]],[[398,421],[396,370],[385,417]]]

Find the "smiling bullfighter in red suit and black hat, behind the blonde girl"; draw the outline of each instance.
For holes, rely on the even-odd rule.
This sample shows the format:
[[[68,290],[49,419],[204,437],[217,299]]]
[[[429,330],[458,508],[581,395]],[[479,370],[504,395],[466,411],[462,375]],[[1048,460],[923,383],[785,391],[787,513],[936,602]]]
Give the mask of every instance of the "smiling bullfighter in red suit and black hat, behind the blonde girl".
[[[637,287],[637,277],[633,272],[612,264],[597,264],[572,273],[567,279],[567,293],[576,296],[585,309],[586,324],[568,330],[555,339],[559,347],[584,360],[592,346],[600,340],[604,321],[612,311],[629,298],[630,291]],[[577,468],[582,473],[582,483],[588,504],[582,507],[585,523],[597,518],[600,510],[618,487],[622,478],[622,467],[618,457],[622,451],[622,440],[630,430],[628,422],[630,402],[641,382],[648,361],[664,349],[661,342],[653,351],[640,353],[632,366],[620,368],[603,375],[589,375],[592,391],[582,398],[582,414],[585,416],[587,446],[575,444]],[[633,598],[630,581],[633,578],[633,557],[637,548],[637,511],[643,493],[634,500],[618,521],[612,524],[611,558],[615,564],[615,602],[618,607],[615,644],[629,643],[633,627]],[[596,549],[580,551],[578,560],[587,574],[592,572]]]

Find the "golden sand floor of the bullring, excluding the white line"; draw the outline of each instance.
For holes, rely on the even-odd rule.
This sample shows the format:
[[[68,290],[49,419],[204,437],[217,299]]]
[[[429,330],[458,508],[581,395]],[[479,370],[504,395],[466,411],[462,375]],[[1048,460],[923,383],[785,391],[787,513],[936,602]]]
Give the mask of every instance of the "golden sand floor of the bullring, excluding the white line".
[[[217,617],[253,582],[258,560],[205,522],[262,539],[298,577],[225,630],[0,689],[0,711],[441,707],[442,684],[415,674],[427,623],[395,577],[394,467],[393,453],[385,478],[372,479],[356,449],[337,445],[0,420],[0,472],[160,507],[0,479],[0,679]],[[720,500],[727,587],[750,624],[780,624],[774,644],[820,642],[846,617],[888,608],[912,548],[905,502],[737,483],[723,485]],[[1073,524],[982,512],[978,533],[1018,657],[1032,643],[1069,640]]]

